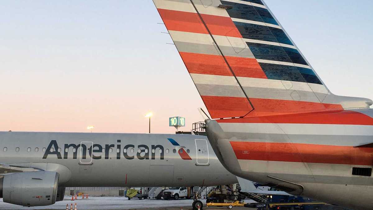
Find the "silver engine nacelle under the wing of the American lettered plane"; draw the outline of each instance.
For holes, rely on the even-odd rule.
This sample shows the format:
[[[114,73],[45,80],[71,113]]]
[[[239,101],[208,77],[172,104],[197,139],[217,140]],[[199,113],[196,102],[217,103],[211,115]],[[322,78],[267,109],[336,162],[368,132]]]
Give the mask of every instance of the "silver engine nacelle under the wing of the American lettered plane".
[[[0,197],[5,203],[21,206],[48,206],[56,203],[57,172],[18,172],[0,179]]]

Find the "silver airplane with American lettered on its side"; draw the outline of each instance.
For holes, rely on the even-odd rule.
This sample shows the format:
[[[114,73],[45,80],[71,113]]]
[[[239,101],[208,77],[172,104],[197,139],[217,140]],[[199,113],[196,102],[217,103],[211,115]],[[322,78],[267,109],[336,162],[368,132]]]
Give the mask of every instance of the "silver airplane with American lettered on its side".
[[[0,132],[0,197],[21,206],[62,201],[65,187],[237,183],[206,136]]]

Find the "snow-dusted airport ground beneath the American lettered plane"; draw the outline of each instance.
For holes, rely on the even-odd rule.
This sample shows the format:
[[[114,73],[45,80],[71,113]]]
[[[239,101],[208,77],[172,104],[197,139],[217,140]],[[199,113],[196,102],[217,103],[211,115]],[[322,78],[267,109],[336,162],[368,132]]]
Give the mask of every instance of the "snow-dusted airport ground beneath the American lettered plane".
[[[206,200],[202,200],[205,204]],[[245,200],[247,203],[254,202],[253,200]],[[38,206],[38,207],[22,207],[13,204],[3,203],[3,199],[0,199],[0,209],[6,210],[65,210],[66,204],[76,203],[77,210],[111,210],[111,209],[152,209],[152,210],[187,210],[192,209],[193,200],[156,200],[156,199],[131,199],[127,200],[125,197],[90,197],[87,200],[78,199],[70,201],[68,197],[65,200],[56,202],[51,206]],[[227,209],[226,207],[206,207],[203,209]],[[251,208],[245,207],[233,207],[233,209],[245,209],[252,210]]]

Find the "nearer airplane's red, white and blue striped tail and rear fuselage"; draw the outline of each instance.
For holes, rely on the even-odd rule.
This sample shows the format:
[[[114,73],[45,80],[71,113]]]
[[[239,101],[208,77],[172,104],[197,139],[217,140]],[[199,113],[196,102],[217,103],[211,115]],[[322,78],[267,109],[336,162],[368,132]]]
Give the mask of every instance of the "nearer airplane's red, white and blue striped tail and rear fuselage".
[[[263,0],[153,2],[229,172],[292,195],[373,208],[372,100],[331,93]]]

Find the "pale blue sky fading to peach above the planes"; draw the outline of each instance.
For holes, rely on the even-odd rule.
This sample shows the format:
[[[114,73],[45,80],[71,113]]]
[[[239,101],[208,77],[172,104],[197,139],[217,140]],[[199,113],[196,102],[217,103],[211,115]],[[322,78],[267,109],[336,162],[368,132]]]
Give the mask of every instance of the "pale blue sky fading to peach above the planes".
[[[373,99],[373,1],[266,0],[336,95]],[[205,111],[151,0],[0,7],[0,130],[173,133]]]

